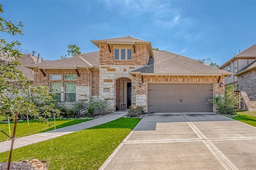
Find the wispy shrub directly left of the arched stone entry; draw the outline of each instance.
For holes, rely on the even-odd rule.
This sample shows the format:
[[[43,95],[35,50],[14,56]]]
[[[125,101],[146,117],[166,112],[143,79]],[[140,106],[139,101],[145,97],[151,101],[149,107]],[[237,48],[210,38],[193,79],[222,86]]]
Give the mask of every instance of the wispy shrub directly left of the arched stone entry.
[[[102,115],[106,112],[106,108],[108,107],[108,99],[91,99],[90,106],[94,107],[95,115]]]

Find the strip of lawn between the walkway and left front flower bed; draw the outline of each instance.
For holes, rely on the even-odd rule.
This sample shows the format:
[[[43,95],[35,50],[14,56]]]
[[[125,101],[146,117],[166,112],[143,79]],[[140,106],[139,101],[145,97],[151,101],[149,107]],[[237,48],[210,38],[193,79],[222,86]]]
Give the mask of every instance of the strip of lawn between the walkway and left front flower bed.
[[[54,119],[48,119],[48,121],[51,121],[51,123],[54,123]],[[66,127],[70,125],[75,125],[78,123],[82,123],[88,121],[88,119],[71,119],[71,120],[60,120],[56,119],[55,126],[56,128],[61,128],[61,127]],[[11,129],[11,134],[13,131],[13,126],[14,123],[10,123],[10,129]],[[8,128],[8,123],[0,123],[0,129],[2,129],[5,133],[9,135],[9,128]],[[44,124],[44,123],[38,123],[36,120],[30,120],[29,121],[29,126],[27,121],[19,121],[17,123],[17,129],[16,129],[16,135],[15,138],[19,137],[25,137],[28,135],[34,135],[36,133],[42,133],[45,131],[50,131],[54,129],[54,125],[51,125],[49,127],[49,124]],[[0,132],[0,142],[10,140],[10,138],[6,137],[2,132]]]

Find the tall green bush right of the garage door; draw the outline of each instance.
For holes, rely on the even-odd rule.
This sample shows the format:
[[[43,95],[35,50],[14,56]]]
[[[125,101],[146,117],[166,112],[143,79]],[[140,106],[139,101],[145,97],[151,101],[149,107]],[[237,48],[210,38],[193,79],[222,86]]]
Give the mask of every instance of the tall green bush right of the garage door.
[[[234,88],[232,86],[228,86],[224,95],[214,95],[208,101],[216,106],[219,113],[235,115],[235,109],[239,102],[239,96],[234,92]]]

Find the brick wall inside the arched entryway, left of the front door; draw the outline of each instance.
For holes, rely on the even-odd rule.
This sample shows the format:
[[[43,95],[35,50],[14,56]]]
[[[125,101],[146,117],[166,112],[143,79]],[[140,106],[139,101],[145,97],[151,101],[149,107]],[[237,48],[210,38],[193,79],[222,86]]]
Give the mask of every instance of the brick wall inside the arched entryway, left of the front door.
[[[130,78],[119,78],[116,80],[116,107],[126,109],[126,104],[122,104],[122,82],[131,82]]]

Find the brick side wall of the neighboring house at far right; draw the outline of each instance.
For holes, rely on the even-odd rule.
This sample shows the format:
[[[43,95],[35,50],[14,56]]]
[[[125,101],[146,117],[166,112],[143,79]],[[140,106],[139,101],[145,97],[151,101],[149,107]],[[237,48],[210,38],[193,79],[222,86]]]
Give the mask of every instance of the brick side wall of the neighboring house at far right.
[[[239,75],[237,84],[242,96],[241,109],[256,111],[256,70]]]

